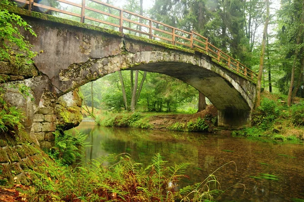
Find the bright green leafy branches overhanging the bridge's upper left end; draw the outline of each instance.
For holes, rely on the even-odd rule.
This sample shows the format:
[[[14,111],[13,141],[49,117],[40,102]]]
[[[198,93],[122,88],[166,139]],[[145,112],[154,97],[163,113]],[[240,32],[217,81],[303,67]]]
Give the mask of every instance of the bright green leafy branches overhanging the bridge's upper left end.
[[[3,3],[10,4],[8,1]],[[32,62],[31,58],[37,53],[30,50],[32,46],[19,31],[21,28],[36,36],[31,26],[20,16],[9,13],[7,10],[0,10],[0,16],[0,60],[10,61],[17,65]]]

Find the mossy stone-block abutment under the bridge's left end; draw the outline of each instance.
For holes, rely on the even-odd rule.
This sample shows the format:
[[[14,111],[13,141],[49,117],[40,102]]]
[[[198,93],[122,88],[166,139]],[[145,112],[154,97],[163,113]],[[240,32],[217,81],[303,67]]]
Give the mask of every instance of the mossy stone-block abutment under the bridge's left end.
[[[30,71],[25,74],[25,69]],[[57,98],[56,94],[51,93],[56,89],[48,76],[34,65],[17,68],[12,63],[0,61],[0,76],[5,78],[2,84],[5,100],[24,111],[25,131],[31,141],[41,148],[54,146],[53,132],[56,129],[67,130],[80,124],[82,99],[78,90]],[[22,89],[26,89],[26,92]]]

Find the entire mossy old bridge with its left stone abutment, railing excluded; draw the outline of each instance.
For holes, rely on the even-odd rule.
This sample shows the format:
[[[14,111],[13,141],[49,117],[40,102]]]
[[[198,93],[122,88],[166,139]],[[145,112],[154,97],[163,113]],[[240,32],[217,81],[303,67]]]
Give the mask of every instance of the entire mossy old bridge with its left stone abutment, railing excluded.
[[[69,115],[62,105],[69,112],[79,111],[81,100],[75,99],[79,97],[75,89],[120,70],[143,70],[176,77],[203,93],[215,105],[219,126],[250,124],[256,85],[202,51],[15,7],[2,7],[21,15],[37,34],[34,37],[23,30],[33,50],[39,53],[33,58],[34,65],[12,70],[2,62],[0,73],[10,75],[7,80],[14,84],[31,88],[32,99],[14,89],[7,91],[7,97],[13,98],[11,102],[26,111],[25,126],[42,147],[51,146],[56,123],[57,127],[65,127],[58,124],[58,119],[68,119]],[[63,101],[63,97],[67,101]],[[72,107],[74,100],[78,100],[78,108]]]

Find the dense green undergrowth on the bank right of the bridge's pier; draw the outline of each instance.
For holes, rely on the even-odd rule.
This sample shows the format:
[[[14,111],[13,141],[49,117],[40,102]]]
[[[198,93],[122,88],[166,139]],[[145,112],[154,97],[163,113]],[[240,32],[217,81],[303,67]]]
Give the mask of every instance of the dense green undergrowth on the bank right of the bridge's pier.
[[[304,100],[298,99],[298,102],[288,107],[286,96],[264,92],[260,106],[252,114],[252,127],[234,131],[233,135],[303,141]]]

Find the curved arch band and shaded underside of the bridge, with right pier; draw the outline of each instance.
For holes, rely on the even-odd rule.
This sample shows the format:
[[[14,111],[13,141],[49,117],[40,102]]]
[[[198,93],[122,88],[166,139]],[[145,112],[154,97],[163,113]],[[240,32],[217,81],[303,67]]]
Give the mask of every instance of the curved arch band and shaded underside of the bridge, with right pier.
[[[119,70],[143,70],[176,77],[203,93],[218,109],[219,125],[248,124],[253,107],[254,85],[247,79],[220,67],[208,56],[181,52],[143,51],[118,54],[85,63],[72,64],[52,79],[59,95],[91,80]]]

